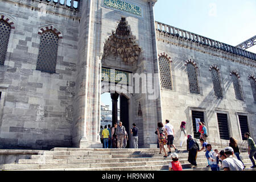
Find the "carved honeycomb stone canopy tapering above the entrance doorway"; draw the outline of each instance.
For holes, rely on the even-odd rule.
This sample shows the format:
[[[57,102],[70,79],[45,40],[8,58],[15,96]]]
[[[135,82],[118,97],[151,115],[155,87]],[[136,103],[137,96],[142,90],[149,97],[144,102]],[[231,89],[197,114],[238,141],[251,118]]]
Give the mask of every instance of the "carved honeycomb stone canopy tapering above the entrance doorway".
[[[109,55],[120,56],[125,63],[136,63],[141,54],[141,48],[135,39],[127,26],[126,19],[122,18],[115,32],[112,32],[106,41],[102,58],[104,59]]]

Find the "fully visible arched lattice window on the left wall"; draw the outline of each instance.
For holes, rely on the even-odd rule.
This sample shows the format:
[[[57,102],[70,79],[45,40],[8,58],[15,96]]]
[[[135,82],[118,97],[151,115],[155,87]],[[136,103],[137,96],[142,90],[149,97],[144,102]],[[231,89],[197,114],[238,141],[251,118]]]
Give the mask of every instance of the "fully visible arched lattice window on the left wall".
[[[43,32],[40,39],[36,70],[55,73],[59,37],[51,30]]]

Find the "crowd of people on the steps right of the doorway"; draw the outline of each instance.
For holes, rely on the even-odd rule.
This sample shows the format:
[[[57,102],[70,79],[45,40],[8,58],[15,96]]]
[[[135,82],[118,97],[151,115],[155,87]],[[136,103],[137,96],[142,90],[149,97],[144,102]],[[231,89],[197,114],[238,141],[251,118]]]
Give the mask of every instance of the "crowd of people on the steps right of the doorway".
[[[192,135],[187,135],[186,133],[186,122],[182,121],[180,125],[180,141],[179,147],[182,147],[184,138],[187,137],[187,151],[188,151],[188,162],[191,163],[192,168],[197,168],[196,158],[198,152],[204,151],[205,157],[208,161],[208,166],[212,171],[220,171],[220,168],[224,171],[243,171],[245,165],[241,160],[240,149],[237,144],[237,140],[233,137],[230,137],[229,146],[225,147],[224,150],[220,152],[217,149],[212,149],[212,144],[207,142],[207,129],[204,125],[204,122],[199,122],[198,133],[200,135],[200,144],[192,137]],[[171,154],[171,146],[174,147],[175,152],[171,154],[172,162],[169,165],[170,171],[181,171],[182,166],[179,162],[179,156],[177,154],[177,148],[174,145],[174,127],[170,124],[170,121],[166,120],[166,125],[164,126],[162,122],[158,123],[158,129],[156,129],[155,134],[158,135],[158,144],[160,148],[159,154],[164,152],[164,158],[167,158],[166,148],[164,147],[167,144],[169,150],[168,154]],[[255,161],[256,159],[256,146],[254,140],[250,137],[249,133],[245,133],[245,138],[248,142],[248,154],[253,163],[251,168],[256,168]],[[236,156],[236,158],[234,158]],[[253,159],[254,158],[254,159]]]

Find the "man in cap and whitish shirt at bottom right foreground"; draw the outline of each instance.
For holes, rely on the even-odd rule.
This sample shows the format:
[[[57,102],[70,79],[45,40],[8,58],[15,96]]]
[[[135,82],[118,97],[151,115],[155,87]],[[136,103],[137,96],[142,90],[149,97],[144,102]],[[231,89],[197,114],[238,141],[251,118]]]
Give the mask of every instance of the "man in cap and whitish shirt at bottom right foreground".
[[[243,171],[243,163],[234,158],[234,150],[232,147],[225,148],[226,159],[222,161],[224,171]]]

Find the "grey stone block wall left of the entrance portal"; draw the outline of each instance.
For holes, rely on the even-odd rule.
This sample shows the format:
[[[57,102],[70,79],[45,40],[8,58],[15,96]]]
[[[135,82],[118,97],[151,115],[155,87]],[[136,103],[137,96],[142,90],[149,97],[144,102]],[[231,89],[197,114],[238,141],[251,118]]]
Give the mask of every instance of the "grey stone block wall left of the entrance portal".
[[[1,97],[1,148],[72,146],[79,24],[74,13],[41,1],[0,2],[0,14],[11,19],[15,27],[5,65],[0,67],[0,87],[5,93]],[[38,32],[49,26],[63,35],[59,38],[56,73],[52,74],[36,70]]]

